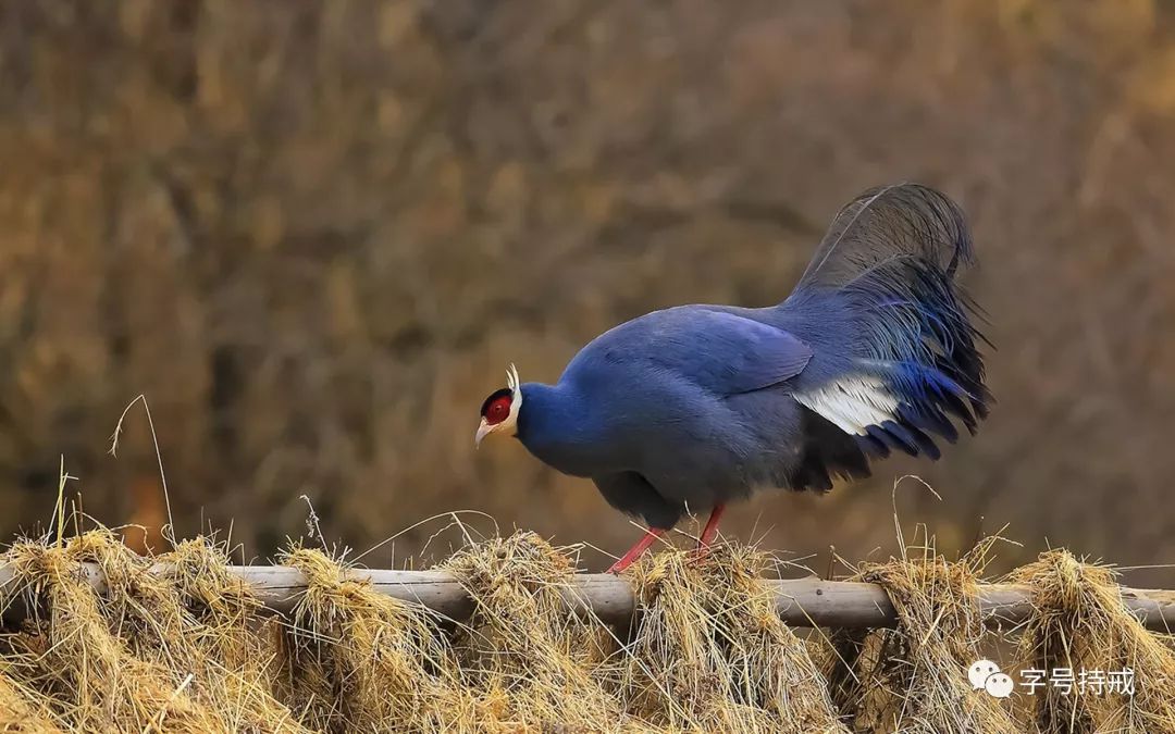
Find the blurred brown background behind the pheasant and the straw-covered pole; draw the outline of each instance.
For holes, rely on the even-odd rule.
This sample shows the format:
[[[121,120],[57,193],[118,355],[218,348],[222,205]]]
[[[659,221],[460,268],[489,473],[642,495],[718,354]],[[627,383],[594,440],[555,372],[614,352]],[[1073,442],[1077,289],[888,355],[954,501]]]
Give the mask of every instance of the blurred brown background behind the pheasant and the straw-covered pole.
[[[973,218],[992,419],[725,531],[888,554],[918,472],[942,499],[905,483],[902,519],[947,550],[982,514],[1005,564],[1175,561],[1173,126],[1160,0],[5,2],[0,530],[46,525],[61,454],[89,514],[157,528],[141,406],[106,453],[145,393],[181,536],[264,558],[306,494],[357,550],[479,510],[622,551],[590,483],[474,452],[506,363],[780,301],[840,204],[916,180]]]

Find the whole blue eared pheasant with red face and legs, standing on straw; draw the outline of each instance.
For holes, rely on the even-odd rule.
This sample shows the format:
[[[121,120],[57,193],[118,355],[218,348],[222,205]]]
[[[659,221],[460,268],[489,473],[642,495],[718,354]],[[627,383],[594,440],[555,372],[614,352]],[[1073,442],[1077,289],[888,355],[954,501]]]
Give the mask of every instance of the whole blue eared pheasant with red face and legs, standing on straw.
[[[553,385],[508,386],[476,440],[515,436],[589,477],[649,525],[623,571],[682,516],[759,487],[827,492],[891,451],[938,459],[956,424],[987,416],[981,335],[955,272],[972,257],[962,211],[916,184],[866,191],[833,220],[791,296],[767,308],[682,305],[600,335]]]

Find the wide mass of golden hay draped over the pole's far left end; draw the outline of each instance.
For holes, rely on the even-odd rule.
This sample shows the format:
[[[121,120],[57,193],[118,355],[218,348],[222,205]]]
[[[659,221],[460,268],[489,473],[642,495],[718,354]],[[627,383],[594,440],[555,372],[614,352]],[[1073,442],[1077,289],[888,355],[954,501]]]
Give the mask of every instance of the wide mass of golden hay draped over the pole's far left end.
[[[209,558],[215,553],[184,544],[153,572],[152,561],[102,530],[61,546],[16,544],[6,595],[19,597],[31,615],[4,639],[2,656],[21,664],[9,676],[70,729],[303,730],[269,691],[241,599],[212,599],[217,585],[244,593],[240,583],[209,584],[199,573],[223,573],[223,557]],[[101,584],[83,564],[101,570]]]

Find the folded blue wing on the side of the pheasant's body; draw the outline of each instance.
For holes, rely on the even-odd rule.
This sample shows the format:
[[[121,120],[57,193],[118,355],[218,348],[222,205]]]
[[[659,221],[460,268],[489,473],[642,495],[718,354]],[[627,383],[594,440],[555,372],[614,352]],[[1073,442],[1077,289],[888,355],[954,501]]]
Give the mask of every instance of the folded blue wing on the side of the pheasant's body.
[[[728,311],[692,308],[649,344],[647,359],[716,395],[763,390],[799,375],[812,349],[777,326]]]

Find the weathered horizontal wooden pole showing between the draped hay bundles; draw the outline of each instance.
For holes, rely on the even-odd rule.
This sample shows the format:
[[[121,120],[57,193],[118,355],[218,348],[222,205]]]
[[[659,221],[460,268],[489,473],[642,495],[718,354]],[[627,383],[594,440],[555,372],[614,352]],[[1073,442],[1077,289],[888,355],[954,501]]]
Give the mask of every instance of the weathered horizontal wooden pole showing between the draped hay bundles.
[[[105,592],[105,580],[96,567],[83,567],[85,578]],[[274,612],[289,613],[306,590],[306,579],[296,568],[284,566],[230,566]],[[167,573],[163,566],[155,572]],[[350,579],[368,580],[381,594],[421,604],[456,620],[469,619],[474,601],[452,577],[437,571],[352,570]],[[11,590],[12,571],[0,566],[0,594]],[[898,622],[885,590],[860,581],[827,581],[818,578],[768,580],[776,593],[779,617],[795,627],[893,627]],[[629,581],[606,573],[577,574],[563,590],[568,606],[579,614],[593,612],[607,624],[631,620],[636,598]],[[1175,592],[1122,588],[1122,604],[1144,627],[1157,632],[1175,629]],[[1032,614],[1032,590],[1012,584],[982,584],[980,611],[989,625],[1015,626]],[[15,610],[15,607],[14,607]],[[6,613],[6,618],[9,614]]]

